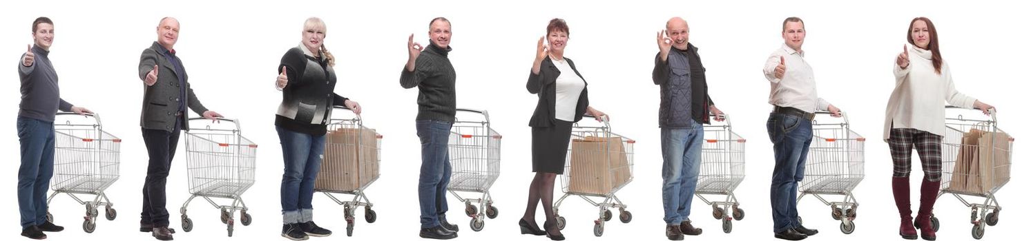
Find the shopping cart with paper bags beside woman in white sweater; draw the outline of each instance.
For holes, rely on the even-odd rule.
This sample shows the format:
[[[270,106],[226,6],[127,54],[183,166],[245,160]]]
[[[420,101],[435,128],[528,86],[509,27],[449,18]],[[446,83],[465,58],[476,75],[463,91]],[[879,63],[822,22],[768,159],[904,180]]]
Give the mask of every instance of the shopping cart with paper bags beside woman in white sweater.
[[[1009,182],[1013,138],[998,128],[995,109],[990,110],[991,119],[977,118],[980,110],[954,106],[947,106],[945,110],[941,192],[938,197],[952,194],[969,207],[970,223],[973,225],[970,234],[974,239],[980,239],[985,236],[985,225],[999,222],[1002,205],[995,198],[995,193]],[[970,135],[976,137],[971,138]],[[967,201],[968,198],[983,198],[984,201],[972,203]],[[935,231],[938,230],[938,218],[933,214],[931,225]]]

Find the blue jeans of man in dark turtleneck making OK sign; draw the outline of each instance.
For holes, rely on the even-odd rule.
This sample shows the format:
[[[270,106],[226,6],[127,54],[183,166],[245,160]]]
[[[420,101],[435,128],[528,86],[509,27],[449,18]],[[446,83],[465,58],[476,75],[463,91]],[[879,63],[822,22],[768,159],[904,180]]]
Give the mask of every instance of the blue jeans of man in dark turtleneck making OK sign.
[[[438,217],[447,212],[451,127],[450,122],[415,120],[415,133],[423,144],[423,167],[419,171],[419,219],[423,229],[440,226]]]

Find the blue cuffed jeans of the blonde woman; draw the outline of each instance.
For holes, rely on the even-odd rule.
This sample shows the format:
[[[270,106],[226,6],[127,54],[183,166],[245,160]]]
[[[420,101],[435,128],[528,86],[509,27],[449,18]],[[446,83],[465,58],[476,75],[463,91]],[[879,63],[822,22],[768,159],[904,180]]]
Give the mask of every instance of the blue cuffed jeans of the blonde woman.
[[[326,136],[314,136],[275,127],[282,146],[282,183],[279,185],[279,205],[282,223],[311,220],[311,198],[314,196],[315,176],[322,166]]]

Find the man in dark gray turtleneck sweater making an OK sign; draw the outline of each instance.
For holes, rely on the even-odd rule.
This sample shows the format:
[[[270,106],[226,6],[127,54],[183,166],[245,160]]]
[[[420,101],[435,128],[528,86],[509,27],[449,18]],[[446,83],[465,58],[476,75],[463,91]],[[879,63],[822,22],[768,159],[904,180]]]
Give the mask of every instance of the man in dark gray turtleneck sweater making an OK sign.
[[[444,18],[430,21],[430,41],[426,49],[408,36],[408,62],[401,71],[401,87],[419,87],[419,115],[415,132],[423,143],[423,166],[419,173],[419,207],[422,230],[419,237],[453,239],[458,226],[447,223],[447,137],[455,123],[455,68],[447,59],[451,51],[451,22]]]

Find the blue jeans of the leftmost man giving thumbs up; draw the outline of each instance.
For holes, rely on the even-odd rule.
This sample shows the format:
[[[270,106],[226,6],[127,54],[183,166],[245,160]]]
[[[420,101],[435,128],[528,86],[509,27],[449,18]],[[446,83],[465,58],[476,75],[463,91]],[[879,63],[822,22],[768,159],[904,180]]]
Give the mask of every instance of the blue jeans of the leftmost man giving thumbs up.
[[[46,190],[54,176],[54,123],[18,116],[22,166],[18,169],[18,211],[22,229],[46,221]]]

